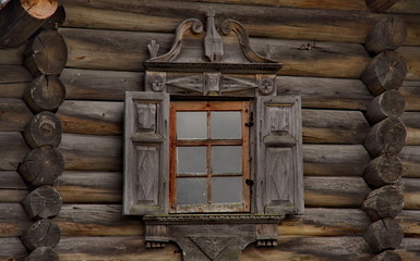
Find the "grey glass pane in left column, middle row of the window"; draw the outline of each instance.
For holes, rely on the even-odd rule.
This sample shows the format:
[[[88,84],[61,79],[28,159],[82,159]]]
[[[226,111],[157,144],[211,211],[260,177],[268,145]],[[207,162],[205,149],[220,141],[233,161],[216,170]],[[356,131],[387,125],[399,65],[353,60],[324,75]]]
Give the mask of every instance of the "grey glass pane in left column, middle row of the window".
[[[207,159],[206,147],[178,147],[177,173],[178,174],[206,174]]]

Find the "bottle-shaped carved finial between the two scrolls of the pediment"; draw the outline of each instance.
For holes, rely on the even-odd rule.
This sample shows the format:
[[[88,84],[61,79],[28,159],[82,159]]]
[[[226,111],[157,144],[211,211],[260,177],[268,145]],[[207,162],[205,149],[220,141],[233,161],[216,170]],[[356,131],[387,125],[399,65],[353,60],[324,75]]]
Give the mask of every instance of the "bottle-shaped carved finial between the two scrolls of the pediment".
[[[204,37],[204,52],[211,62],[219,62],[224,55],[224,45],[221,37],[215,27],[215,14],[216,11],[213,9],[208,9],[206,11],[207,30],[206,36]]]

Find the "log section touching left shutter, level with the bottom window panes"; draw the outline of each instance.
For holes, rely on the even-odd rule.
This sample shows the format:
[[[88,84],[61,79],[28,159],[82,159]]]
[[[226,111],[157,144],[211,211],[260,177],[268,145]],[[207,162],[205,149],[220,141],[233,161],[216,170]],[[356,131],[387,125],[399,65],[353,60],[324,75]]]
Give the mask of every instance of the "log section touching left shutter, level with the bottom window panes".
[[[63,203],[120,203],[122,173],[64,172],[57,182]]]

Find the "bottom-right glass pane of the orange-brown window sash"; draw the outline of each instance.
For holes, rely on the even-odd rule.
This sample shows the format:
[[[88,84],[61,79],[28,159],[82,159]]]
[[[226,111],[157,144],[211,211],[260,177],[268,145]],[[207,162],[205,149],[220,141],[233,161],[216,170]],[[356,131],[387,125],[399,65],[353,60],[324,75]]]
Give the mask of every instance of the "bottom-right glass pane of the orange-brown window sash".
[[[212,203],[242,202],[242,177],[214,177]]]

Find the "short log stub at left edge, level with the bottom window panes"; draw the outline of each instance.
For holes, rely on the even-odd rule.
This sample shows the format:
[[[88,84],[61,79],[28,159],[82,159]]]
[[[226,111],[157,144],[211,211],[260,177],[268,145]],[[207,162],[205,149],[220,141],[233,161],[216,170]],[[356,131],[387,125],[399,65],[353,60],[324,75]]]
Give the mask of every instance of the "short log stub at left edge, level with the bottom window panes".
[[[0,202],[20,202],[27,194],[27,187],[17,172],[0,172]]]

